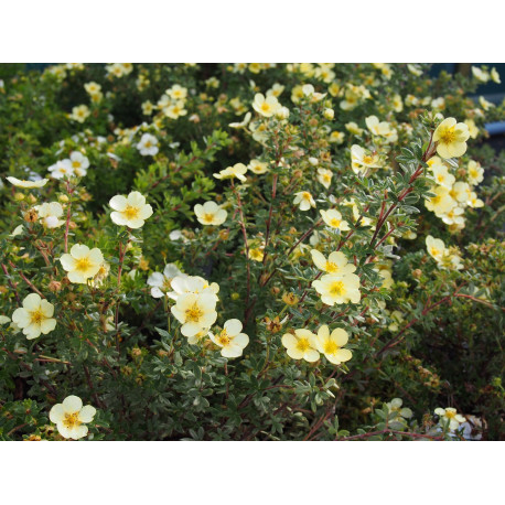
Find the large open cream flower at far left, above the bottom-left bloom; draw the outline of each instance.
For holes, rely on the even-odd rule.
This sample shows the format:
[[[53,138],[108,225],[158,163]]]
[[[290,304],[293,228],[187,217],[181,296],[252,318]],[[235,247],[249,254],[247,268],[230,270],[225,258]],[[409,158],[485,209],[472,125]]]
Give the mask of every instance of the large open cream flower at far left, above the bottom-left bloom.
[[[28,340],[36,339],[43,333],[46,335],[56,327],[53,319],[54,305],[41,299],[36,293],[30,293],[23,300],[23,307],[12,313],[12,322],[23,330]]]

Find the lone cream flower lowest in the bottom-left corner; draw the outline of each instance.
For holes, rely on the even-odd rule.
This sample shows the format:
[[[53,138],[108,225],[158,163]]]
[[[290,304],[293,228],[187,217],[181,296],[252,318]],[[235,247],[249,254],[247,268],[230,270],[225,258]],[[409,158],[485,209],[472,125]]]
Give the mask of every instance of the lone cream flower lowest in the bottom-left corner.
[[[88,434],[86,422],[92,422],[96,415],[95,407],[86,405],[78,396],[67,396],[62,404],[56,404],[50,411],[50,420],[56,425],[65,439],[78,440]]]

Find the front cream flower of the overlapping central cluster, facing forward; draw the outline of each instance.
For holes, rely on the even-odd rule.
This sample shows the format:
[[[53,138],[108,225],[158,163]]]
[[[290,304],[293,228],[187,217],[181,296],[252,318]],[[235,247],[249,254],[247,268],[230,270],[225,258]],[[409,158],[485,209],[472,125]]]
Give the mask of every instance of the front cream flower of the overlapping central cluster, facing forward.
[[[216,322],[216,297],[212,293],[180,294],[171,312],[182,323],[181,333],[184,336],[193,336]]]

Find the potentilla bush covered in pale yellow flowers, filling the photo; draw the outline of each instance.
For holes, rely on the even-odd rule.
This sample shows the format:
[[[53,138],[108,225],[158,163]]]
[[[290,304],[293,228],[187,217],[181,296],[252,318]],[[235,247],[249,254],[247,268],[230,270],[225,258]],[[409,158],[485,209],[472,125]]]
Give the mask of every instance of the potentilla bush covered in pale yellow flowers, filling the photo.
[[[2,440],[503,438],[494,68],[4,67]]]

